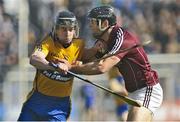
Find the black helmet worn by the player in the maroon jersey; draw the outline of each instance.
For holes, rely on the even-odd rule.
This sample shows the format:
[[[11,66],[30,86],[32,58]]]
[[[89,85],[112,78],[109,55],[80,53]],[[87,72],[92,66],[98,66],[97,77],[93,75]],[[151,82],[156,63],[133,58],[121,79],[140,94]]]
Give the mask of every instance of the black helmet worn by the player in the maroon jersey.
[[[101,21],[107,19],[109,21],[109,25],[111,26],[116,24],[116,15],[111,6],[100,6],[93,8],[89,12],[88,17],[95,18]]]

